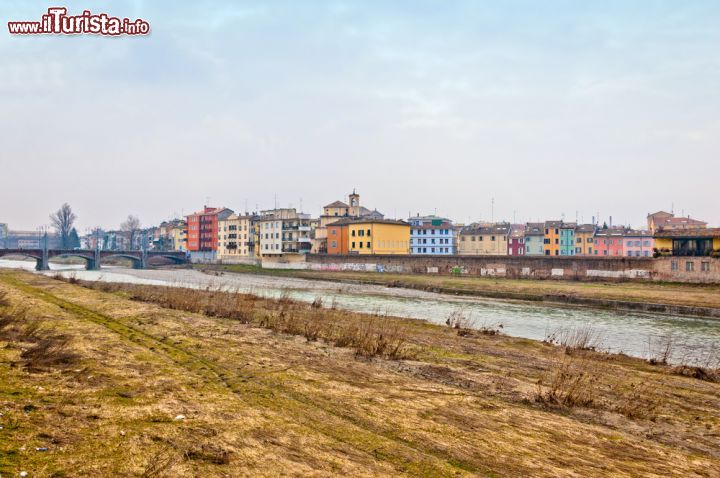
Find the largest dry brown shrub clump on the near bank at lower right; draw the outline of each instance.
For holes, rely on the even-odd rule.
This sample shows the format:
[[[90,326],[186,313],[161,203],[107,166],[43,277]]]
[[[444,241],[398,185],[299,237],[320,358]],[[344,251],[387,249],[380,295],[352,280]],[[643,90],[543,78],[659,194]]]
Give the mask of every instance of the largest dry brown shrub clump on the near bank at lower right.
[[[535,401],[567,407],[590,406],[595,401],[595,384],[599,377],[596,363],[565,357],[538,380]]]

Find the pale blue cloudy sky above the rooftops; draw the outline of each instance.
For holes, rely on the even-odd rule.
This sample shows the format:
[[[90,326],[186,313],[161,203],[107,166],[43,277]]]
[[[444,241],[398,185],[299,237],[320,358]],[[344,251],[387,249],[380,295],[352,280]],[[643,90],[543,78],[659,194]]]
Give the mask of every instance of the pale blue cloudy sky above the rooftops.
[[[14,36],[50,6],[145,37]],[[720,225],[720,2],[0,3],[0,222],[346,200]]]

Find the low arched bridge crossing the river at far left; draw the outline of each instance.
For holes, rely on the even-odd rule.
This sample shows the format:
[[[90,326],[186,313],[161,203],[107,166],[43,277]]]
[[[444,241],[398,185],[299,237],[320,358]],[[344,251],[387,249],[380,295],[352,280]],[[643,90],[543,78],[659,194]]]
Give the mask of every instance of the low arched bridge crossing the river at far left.
[[[91,249],[0,249],[0,257],[31,257],[39,271],[49,270],[49,260],[53,257],[79,257],[85,260],[87,270],[100,269],[100,263],[110,257],[130,259],[135,269],[145,269],[148,261],[153,258],[167,259],[175,264],[188,262],[187,255],[182,251],[104,251]]]

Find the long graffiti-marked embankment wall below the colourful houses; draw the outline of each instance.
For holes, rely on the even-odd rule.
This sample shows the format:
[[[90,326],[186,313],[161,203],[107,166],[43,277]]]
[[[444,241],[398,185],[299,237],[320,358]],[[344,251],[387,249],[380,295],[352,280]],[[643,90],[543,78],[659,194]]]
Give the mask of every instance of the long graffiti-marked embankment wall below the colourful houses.
[[[641,280],[720,283],[710,257],[382,256],[308,254],[304,261],[263,260],[263,267],[321,271],[455,274],[559,280]]]

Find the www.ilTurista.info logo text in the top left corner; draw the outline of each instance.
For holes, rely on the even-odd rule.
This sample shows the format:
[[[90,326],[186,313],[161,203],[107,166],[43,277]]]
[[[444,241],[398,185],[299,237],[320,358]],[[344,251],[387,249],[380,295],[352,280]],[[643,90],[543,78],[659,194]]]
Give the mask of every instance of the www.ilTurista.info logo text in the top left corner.
[[[142,18],[117,18],[90,10],[72,16],[67,14],[67,8],[53,7],[39,22],[8,22],[8,30],[12,35],[147,35],[150,24]]]

